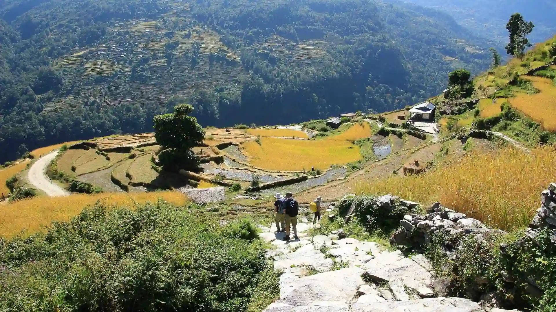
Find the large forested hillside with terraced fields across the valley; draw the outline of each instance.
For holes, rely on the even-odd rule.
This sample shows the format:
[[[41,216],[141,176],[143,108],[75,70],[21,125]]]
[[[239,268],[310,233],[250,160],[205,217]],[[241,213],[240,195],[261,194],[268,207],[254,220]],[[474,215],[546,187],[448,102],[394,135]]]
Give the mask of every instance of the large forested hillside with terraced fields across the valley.
[[[390,110],[490,63],[447,14],[378,1],[11,0],[0,17],[0,161],[147,132],[184,101],[221,126]]]

